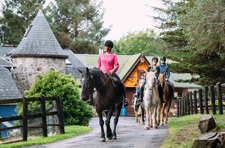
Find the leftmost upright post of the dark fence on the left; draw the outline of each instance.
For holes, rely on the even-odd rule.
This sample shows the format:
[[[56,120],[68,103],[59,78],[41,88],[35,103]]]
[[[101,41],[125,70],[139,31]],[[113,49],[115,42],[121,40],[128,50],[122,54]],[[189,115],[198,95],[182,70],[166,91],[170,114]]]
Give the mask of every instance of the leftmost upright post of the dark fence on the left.
[[[23,96],[23,141],[27,141],[28,125],[27,125],[28,100]]]

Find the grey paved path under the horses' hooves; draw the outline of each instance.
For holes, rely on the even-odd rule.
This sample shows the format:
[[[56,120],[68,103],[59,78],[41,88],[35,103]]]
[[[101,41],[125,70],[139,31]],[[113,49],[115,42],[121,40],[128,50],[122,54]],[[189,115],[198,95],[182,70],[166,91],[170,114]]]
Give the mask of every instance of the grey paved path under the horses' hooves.
[[[100,126],[98,118],[93,118],[89,127],[93,128],[93,130],[86,134],[50,144],[30,146],[29,148],[157,148],[169,134],[166,126],[145,130],[144,125],[136,123],[134,117],[120,117],[117,125],[118,139],[107,139],[106,142],[99,142]],[[112,123],[111,127],[113,127]]]

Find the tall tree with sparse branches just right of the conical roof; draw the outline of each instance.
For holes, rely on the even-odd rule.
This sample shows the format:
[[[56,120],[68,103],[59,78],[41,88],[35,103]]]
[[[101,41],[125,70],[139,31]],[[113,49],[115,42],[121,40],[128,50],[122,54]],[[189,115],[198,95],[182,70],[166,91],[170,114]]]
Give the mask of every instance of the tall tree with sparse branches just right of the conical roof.
[[[96,53],[109,28],[103,27],[102,2],[56,0],[48,7],[48,19],[62,48],[74,53]]]

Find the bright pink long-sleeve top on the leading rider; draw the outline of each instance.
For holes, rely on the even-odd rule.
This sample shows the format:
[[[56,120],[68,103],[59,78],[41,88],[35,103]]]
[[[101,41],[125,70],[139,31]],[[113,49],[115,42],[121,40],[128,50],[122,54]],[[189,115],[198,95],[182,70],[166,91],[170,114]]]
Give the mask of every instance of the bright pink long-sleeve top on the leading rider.
[[[116,54],[105,55],[101,53],[98,58],[97,68],[100,68],[103,73],[110,73],[114,69],[116,72],[119,68],[119,62]]]

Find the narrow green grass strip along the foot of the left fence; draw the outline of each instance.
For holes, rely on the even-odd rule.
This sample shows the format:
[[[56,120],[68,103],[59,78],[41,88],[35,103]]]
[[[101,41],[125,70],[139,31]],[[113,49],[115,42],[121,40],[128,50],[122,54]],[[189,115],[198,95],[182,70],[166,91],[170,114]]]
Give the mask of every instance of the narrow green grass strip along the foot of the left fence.
[[[45,143],[52,143],[57,140],[62,140],[66,138],[70,138],[76,135],[80,135],[86,132],[91,131],[92,129],[86,126],[65,126],[65,134],[58,134],[56,136],[51,137],[28,137],[27,141],[12,143],[12,144],[0,144],[0,148],[12,148],[12,147],[22,147],[22,146],[29,146],[29,145],[40,145]]]

